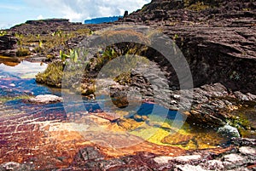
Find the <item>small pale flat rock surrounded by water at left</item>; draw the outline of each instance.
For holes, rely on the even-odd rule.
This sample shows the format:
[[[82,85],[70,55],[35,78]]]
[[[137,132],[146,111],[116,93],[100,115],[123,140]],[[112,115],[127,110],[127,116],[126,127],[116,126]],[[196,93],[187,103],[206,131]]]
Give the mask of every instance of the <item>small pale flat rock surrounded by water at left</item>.
[[[49,103],[61,102],[62,98],[56,95],[45,94],[45,95],[38,95],[35,98],[29,99],[28,101],[30,103],[49,104]]]

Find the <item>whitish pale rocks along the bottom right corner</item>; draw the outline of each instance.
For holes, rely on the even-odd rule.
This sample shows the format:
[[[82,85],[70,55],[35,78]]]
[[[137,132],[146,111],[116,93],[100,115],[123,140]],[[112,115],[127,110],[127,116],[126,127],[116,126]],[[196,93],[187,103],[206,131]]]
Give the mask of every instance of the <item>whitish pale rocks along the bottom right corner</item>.
[[[233,139],[235,140],[235,138]],[[236,138],[240,141],[239,148],[230,147],[217,153],[209,151],[195,151],[189,156],[179,157],[154,157],[154,162],[161,167],[172,163],[172,170],[251,170],[256,161],[253,140]],[[233,144],[234,141],[231,143]],[[238,149],[238,150],[237,150]],[[249,167],[247,167],[249,166]],[[159,167],[160,168],[160,167]]]

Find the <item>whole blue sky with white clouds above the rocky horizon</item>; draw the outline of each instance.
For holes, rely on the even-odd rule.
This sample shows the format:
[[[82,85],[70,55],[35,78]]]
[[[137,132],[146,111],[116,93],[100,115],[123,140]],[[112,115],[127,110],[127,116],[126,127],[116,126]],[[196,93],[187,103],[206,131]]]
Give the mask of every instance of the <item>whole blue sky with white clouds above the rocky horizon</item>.
[[[0,29],[26,20],[66,18],[83,22],[85,19],[122,15],[141,9],[150,0],[1,0]]]

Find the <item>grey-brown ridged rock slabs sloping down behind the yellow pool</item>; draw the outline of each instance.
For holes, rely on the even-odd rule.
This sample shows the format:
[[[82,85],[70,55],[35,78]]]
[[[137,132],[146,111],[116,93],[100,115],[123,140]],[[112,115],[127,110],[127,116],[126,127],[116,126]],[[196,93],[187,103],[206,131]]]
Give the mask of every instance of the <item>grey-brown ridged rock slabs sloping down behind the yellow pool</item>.
[[[147,77],[151,77],[150,73]],[[159,71],[154,73],[159,73]],[[242,102],[239,102],[239,98],[222,83],[207,84],[200,88],[194,88],[193,94],[188,90],[165,90],[161,88],[154,88],[153,93],[153,90],[150,89],[150,83],[137,71],[132,71],[131,76],[131,87],[134,86],[138,89],[137,91],[143,92],[143,94],[154,94],[157,91],[157,94],[154,94],[154,100],[157,100],[160,105],[164,105],[171,110],[180,109],[180,105],[185,106],[184,108],[191,107],[191,110],[184,113],[187,115],[187,122],[190,124],[215,128],[224,126],[232,118],[230,111],[238,110],[240,103],[242,104]],[[181,94],[185,96],[183,104],[180,104],[179,101]],[[243,100],[253,100],[253,94],[242,94],[238,91],[236,91],[236,94],[240,94]],[[192,96],[194,97],[193,103],[192,106],[189,106],[191,105],[189,102],[191,102]]]

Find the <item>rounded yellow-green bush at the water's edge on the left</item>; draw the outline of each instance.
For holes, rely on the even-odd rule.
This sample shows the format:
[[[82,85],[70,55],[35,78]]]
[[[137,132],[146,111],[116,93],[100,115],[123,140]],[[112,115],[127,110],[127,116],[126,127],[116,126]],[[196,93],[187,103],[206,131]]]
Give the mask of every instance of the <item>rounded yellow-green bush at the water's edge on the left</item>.
[[[38,73],[36,81],[46,83],[49,86],[61,88],[64,65],[62,61],[50,63],[43,73]]]

